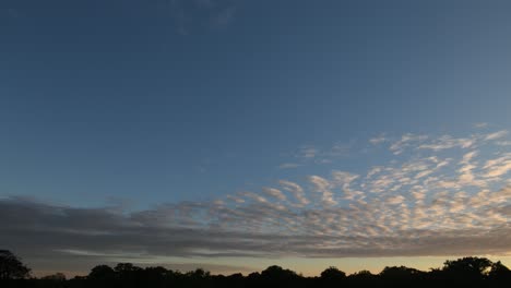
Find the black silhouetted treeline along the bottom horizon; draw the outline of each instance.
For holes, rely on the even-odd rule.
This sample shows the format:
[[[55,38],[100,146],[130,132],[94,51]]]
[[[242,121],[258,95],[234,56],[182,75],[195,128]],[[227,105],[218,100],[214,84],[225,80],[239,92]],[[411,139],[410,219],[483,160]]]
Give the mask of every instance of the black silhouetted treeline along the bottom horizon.
[[[270,266],[261,273],[211,275],[204,269],[181,273],[164,267],[141,268],[130,263],[115,267],[98,265],[87,276],[67,279],[61,273],[40,278],[31,277],[14,254],[0,250],[0,287],[58,288],[170,288],[170,287],[511,287],[511,271],[500,262],[485,257],[463,257],[445,261],[442,268],[423,272],[405,266],[385,267],[379,274],[361,271],[346,275],[329,267],[319,277]]]

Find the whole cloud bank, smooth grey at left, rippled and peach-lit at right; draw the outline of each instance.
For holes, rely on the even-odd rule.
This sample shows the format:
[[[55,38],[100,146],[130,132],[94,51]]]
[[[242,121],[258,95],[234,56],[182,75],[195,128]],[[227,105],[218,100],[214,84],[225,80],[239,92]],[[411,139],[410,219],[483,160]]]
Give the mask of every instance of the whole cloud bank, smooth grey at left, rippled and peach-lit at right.
[[[259,193],[145,211],[0,200],[0,245],[27,259],[344,257],[507,254],[511,153],[507,132],[405,134],[365,173],[333,170]],[[399,152],[399,153],[396,153]],[[447,153],[449,152],[449,153]]]

